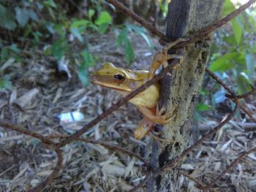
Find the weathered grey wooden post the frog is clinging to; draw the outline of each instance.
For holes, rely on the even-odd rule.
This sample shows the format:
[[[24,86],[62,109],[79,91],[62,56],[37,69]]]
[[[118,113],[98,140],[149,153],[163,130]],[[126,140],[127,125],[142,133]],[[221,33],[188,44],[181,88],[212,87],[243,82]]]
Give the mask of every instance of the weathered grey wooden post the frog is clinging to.
[[[169,39],[192,37],[206,26],[216,23],[222,14],[223,0],[172,0],[168,6],[167,31]],[[195,101],[203,82],[212,36],[186,47],[184,62],[171,77],[161,82],[159,106],[176,106],[176,118],[163,127],[167,142],[154,140],[151,166],[153,172],[164,166],[187,148],[189,128]],[[162,176],[151,177],[147,191],[178,191],[178,167]]]

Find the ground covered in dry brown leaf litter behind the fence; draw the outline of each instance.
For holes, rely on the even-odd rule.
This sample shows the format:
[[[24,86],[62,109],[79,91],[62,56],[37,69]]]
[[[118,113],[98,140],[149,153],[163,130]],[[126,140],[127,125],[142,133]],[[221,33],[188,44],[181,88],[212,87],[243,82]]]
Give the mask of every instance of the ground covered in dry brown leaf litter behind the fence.
[[[99,69],[105,61],[126,66],[123,47],[116,47],[116,34],[103,36],[89,34],[90,51],[97,56],[97,64],[89,69]],[[130,35],[135,47],[135,62],[130,69],[148,69],[154,53],[160,49],[157,39],[151,38],[154,49],[137,35]],[[70,80],[62,80],[56,70],[56,61],[45,57],[42,50],[24,50],[23,63],[12,62],[6,72],[12,74],[12,91],[0,90],[0,118],[40,134],[69,134],[60,125],[58,115],[79,111],[84,119],[78,126],[108,109],[121,99],[117,93],[97,85],[83,86],[69,64]],[[214,83],[214,82],[212,82]],[[20,97],[34,90],[34,97],[23,107]],[[251,98],[255,101],[255,98]],[[208,129],[225,118],[226,105],[219,111],[201,114],[192,126],[192,145]],[[226,107],[226,108],[225,108]],[[253,107],[253,105],[252,105]],[[227,110],[228,111],[228,110]],[[84,134],[84,137],[115,144],[150,159],[150,136],[142,141],[133,137],[133,131],[142,115],[132,104],[125,104],[118,111],[102,120]],[[240,112],[214,138],[204,142],[190,153],[181,165],[181,171],[207,185],[238,155],[255,147],[255,131],[246,131],[240,122],[246,117]],[[200,127],[204,127],[200,129]],[[255,129],[256,130],[256,129]],[[143,180],[142,162],[100,145],[73,142],[62,148],[63,169],[45,191],[128,191]],[[0,191],[26,191],[47,177],[56,164],[56,154],[45,149],[37,140],[18,132],[0,128]],[[256,154],[243,158],[219,181],[215,191],[256,191]],[[145,191],[141,188],[140,191]],[[195,183],[184,175],[179,177],[178,191],[199,191]]]

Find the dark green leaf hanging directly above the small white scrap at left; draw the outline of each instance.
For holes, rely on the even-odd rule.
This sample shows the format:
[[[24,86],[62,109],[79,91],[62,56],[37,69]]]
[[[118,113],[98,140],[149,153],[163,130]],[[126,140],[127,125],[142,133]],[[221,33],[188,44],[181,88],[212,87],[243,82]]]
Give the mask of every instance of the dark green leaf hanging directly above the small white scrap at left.
[[[53,56],[61,60],[62,56],[67,52],[67,41],[66,39],[59,38],[53,43]]]

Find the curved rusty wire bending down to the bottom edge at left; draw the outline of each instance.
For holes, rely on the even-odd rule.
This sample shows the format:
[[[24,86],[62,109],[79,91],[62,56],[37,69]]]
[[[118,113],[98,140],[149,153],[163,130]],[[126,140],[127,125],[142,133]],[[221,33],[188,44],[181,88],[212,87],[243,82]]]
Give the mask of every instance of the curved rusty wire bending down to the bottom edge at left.
[[[53,169],[53,172],[45,180],[43,180],[39,185],[37,185],[34,188],[31,188],[28,192],[42,191],[42,189],[44,189],[50,182],[52,182],[54,178],[57,177],[57,175],[59,174],[59,171],[62,168],[63,156],[59,147],[55,147],[54,150],[56,151],[58,161],[55,168]]]

